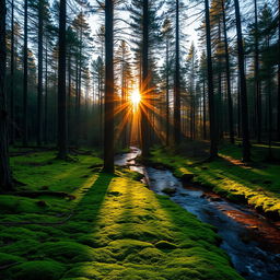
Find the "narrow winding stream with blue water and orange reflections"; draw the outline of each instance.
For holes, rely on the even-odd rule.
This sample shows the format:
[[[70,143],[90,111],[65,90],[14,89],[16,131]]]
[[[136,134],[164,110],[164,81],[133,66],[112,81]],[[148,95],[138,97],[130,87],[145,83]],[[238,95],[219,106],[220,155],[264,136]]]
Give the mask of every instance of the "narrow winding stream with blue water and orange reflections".
[[[131,147],[129,153],[117,155],[115,163],[143,174],[144,183],[156,194],[165,195],[164,189],[174,189],[171,200],[200,221],[218,229],[223,240],[221,248],[245,279],[280,279],[279,223],[269,221],[247,206],[230,202],[201,186],[183,185],[168,170],[140,165],[136,162],[140,154],[141,150]]]

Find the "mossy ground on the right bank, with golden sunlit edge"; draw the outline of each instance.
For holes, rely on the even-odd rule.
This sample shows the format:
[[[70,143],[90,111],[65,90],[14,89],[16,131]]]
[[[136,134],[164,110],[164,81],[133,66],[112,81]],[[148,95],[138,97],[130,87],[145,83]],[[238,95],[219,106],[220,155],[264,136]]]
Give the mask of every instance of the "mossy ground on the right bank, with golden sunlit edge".
[[[164,165],[180,178],[190,179],[235,202],[245,202],[268,217],[280,220],[280,161],[268,162],[268,147],[253,144],[253,161],[244,164],[238,144],[223,144],[219,159],[205,161],[203,143],[187,143],[178,151],[159,148],[151,162]],[[179,155],[178,155],[179,154]],[[195,156],[200,154],[199,158]],[[275,159],[280,159],[280,147],[272,147]],[[192,178],[194,176],[194,178]]]

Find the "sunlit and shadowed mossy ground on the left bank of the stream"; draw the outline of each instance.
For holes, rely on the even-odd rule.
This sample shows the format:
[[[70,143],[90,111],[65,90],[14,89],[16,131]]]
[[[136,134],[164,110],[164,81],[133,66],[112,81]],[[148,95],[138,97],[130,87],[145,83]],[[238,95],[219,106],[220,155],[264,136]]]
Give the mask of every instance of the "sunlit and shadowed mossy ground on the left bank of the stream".
[[[2,279],[242,279],[214,229],[149,190],[138,173],[118,167],[113,176],[97,156],[62,162],[52,151],[11,163],[26,185],[0,195]]]

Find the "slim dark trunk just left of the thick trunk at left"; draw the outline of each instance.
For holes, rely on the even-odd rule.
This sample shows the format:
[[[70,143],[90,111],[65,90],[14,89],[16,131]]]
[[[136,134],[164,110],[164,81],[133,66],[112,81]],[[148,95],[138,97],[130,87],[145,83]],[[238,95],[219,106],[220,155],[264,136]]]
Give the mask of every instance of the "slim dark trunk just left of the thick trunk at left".
[[[37,145],[42,145],[42,98],[43,98],[43,0],[38,2],[38,84],[37,84]]]

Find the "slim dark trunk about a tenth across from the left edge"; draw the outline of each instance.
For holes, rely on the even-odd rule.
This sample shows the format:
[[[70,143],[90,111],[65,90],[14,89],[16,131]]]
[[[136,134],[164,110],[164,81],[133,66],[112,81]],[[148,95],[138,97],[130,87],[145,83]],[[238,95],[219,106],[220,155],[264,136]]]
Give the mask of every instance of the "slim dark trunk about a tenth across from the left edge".
[[[28,0],[24,1],[24,43],[23,43],[23,145],[27,145],[27,75],[28,75]]]

